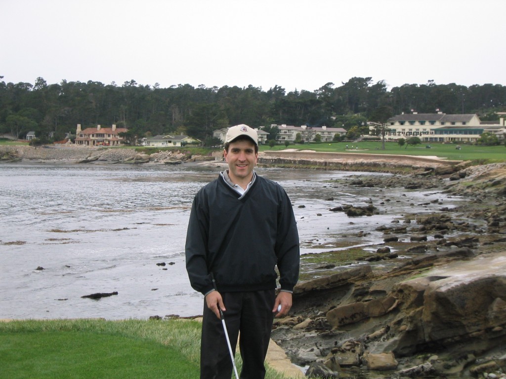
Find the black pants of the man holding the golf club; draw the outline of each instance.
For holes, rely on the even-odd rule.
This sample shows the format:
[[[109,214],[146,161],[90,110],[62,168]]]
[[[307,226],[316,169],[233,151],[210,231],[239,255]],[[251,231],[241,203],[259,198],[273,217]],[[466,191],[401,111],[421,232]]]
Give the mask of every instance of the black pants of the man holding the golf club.
[[[271,337],[275,291],[229,292],[221,295],[227,309],[224,318],[234,355],[240,331],[240,378],[264,379],[264,360]],[[223,324],[207,308],[205,301],[203,315],[200,379],[230,379],[233,366]]]

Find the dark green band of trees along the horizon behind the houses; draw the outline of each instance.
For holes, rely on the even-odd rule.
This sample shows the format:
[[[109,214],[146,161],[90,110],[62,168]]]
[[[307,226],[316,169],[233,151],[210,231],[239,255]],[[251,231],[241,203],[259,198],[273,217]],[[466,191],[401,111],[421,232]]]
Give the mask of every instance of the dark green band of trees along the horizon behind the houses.
[[[3,76],[0,76],[0,80]],[[212,143],[215,129],[247,124],[344,127],[360,132],[367,121],[384,123],[392,115],[412,110],[447,114],[478,113],[482,120],[497,120],[495,112],[506,110],[506,86],[404,84],[387,89],[384,80],[353,77],[346,83],[326,83],[320,88],[287,92],[275,85],[262,87],[194,87],[189,84],[161,88],[97,81],[48,84],[38,77],[35,84],[0,81],[0,134],[24,138],[37,136],[62,139],[101,124],[128,128],[137,136],[184,133]]]

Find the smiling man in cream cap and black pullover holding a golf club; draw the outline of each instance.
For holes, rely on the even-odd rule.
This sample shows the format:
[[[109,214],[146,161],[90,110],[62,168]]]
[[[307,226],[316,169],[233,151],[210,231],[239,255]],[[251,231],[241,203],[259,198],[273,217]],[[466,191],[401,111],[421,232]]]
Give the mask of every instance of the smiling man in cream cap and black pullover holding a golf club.
[[[190,283],[204,295],[200,378],[232,374],[221,309],[234,353],[240,331],[241,379],[263,379],[273,318],[290,310],[299,277],[299,234],[284,189],[254,171],[257,132],[229,128],[224,156],[228,170],[195,196],[186,235]]]

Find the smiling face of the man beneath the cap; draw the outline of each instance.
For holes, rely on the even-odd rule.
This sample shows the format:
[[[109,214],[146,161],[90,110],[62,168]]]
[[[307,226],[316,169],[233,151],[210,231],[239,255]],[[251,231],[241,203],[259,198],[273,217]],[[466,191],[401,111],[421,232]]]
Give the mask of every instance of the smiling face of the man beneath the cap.
[[[228,175],[233,182],[251,179],[251,172],[258,160],[258,153],[255,153],[255,144],[252,141],[231,142],[224,155],[229,167]]]

